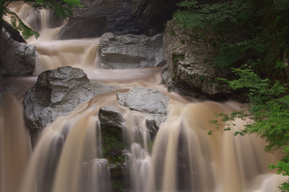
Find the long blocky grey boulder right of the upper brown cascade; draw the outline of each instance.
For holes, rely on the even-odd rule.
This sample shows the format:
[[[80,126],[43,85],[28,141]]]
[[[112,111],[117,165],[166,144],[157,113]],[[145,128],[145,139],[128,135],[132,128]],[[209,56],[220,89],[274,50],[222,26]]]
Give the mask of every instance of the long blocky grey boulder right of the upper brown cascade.
[[[163,66],[166,64],[162,53],[163,36],[105,33],[99,41],[100,66],[105,69]]]

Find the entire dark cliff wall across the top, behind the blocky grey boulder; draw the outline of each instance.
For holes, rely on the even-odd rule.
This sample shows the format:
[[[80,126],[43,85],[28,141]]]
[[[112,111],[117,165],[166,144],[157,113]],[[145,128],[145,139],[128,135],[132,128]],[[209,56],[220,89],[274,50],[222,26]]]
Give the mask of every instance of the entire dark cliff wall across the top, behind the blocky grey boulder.
[[[172,18],[179,0],[81,0],[84,7],[72,9],[73,17],[61,29],[60,39],[163,33],[163,23]]]

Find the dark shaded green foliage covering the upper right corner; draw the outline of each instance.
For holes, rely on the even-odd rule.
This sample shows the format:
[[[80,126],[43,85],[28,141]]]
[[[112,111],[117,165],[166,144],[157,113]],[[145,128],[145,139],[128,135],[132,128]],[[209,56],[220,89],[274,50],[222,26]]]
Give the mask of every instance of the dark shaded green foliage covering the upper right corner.
[[[216,67],[266,68],[273,80],[282,74],[280,61],[289,56],[287,0],[185,0],[177,5],[175,23],[194,29],[216,48]]]

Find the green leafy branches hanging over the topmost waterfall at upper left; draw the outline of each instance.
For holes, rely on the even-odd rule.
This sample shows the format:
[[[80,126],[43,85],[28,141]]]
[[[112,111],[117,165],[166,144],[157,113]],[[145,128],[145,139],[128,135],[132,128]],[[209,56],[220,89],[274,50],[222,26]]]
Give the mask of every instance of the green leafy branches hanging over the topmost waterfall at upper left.
[[[17,16],[15,12],[12,12],[7,6],[12,2],[0,0],[0,23],[3,22],[3,18],[7,16],[7,14],[11,14],[11,25],[15,30],[21,31],[24,39],[28,39],[33,36],[37,39],[39,37],[39,33],[33,31],[30,27],[25,25],[23,21]],[[80,4],[79,0],[24,0],[24,3],[34,7],[34,9],[40,12],[41,9],[48,9],[50,12],[53,12],[58,19],[66,19],[68,16],[73,16],[71,8],[74,7],[83,7]],[[63,6],[63,5],[66,6]],[[18,21],[18,24],[17,24]]]

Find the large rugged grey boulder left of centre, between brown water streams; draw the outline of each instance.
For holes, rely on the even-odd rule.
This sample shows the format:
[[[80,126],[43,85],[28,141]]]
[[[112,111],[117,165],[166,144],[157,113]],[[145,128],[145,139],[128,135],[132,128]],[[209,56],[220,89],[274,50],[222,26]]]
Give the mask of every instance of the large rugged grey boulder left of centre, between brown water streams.
[[[33,88],[27,90],[23,100],[32,143],[40,130],[59,115],[67,115],[80,102],[96,94],[115,89],[116,86],[89,80],[82,69],[71,66],[42,72]]]

